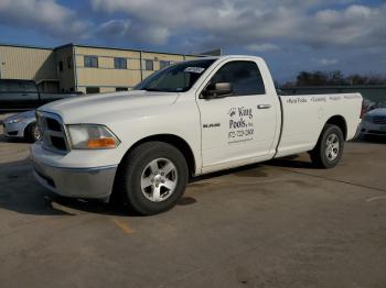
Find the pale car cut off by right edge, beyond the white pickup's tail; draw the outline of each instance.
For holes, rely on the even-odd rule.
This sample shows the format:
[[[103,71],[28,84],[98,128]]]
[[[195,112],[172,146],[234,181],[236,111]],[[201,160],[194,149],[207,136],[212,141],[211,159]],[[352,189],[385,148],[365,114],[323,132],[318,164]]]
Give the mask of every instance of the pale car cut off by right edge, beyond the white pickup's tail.
[[[386,108],[377,108],[365,114],[362,120],[362,135],[386,135]]]

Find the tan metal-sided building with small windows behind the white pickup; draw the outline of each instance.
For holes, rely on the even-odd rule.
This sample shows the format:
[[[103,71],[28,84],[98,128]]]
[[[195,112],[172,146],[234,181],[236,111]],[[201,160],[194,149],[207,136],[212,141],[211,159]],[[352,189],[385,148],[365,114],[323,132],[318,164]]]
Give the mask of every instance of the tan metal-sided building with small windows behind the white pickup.
[[[66,44],[47,48],[0,44],[0,78],[34,80],[41,91],[127,90],[174,62],[199,55]]]

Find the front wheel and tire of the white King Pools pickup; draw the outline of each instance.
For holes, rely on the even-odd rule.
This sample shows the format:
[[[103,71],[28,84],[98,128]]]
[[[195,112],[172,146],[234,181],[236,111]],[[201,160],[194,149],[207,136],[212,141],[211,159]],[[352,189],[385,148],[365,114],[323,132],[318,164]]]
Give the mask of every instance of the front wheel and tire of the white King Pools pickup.
[[[163,142],[136,147],[120,169],[120,190],[131,208],[143,215],[173,208],[185,190],[189,175],[182,153]]]

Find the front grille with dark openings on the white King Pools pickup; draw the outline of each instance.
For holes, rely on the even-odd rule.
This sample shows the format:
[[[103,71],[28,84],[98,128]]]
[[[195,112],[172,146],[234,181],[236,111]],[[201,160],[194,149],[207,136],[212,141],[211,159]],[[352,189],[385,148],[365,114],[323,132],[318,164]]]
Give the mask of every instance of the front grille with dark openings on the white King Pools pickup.
[[[61,154],[69,152],[65,125],[60,115],[36,111],[36,122],[44,148]]]

